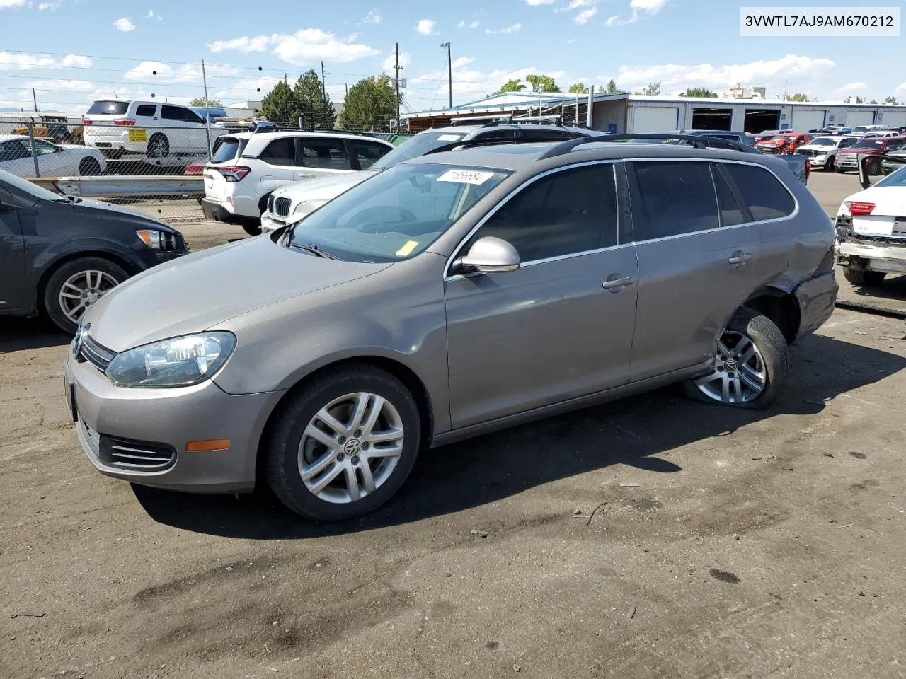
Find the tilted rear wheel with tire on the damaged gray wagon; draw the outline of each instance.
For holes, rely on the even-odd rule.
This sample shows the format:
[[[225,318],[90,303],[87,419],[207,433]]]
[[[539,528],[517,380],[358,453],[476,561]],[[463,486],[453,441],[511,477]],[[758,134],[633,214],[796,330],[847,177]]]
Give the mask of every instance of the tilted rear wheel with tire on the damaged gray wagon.
[[[783,333],[766,316],[743,307],[721,333],[714,369],[686,383],[690,397],[722,406],[766,408],[789,374]]]

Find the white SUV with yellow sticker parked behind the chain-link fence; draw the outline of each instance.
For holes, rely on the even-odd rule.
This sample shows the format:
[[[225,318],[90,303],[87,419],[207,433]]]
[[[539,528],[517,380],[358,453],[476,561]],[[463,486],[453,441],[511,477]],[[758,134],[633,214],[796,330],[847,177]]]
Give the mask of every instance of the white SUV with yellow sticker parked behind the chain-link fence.
[[[82,116],[85,146],[107,158],[138,155],[148,158],[207,156],[211,143],[226,129],[211,124],[194,110],[158,101],[105,99],[95,101]]]

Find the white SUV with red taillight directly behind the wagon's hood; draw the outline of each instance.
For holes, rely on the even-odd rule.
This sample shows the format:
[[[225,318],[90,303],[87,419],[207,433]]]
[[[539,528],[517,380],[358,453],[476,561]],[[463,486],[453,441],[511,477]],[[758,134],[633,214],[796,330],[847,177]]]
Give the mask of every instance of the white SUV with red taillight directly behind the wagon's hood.
[[[348,175],[369,167],[393,145],[339,132],[239,132],[221,140],[204,171],[208,219],[261,233],[271,193],[285,184]]]

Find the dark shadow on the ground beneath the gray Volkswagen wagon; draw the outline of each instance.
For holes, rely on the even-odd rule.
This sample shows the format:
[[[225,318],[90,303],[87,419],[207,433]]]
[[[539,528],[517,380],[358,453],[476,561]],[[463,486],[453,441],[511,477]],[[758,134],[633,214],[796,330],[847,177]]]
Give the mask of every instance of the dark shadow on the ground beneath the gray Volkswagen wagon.
[[[155,521],[244,539],[304,539],[405,524],[497,502],[528,488],[612,464],[679,473],[679,446],[728,435],[778,415],[810,415],[846,392],[906,368],[878,349],[813,336],[793,349],[793,375],[775,406],[752,411],[691,402],[675,387],[595,406],[421,454],[400,493],[355,521],[315,523],[269,493],[217,496],[134,486]]]

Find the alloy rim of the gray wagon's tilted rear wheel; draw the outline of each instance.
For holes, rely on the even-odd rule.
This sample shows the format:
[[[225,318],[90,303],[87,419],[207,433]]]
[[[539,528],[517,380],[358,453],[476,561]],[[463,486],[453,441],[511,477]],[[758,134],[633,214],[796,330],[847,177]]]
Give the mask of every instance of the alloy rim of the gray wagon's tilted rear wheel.
[[[735,330],[724,330],[718,340],[714,371],[695,380],[702,394],[719,403],[748,403],[765,390],[765,360],[755,343]]]

